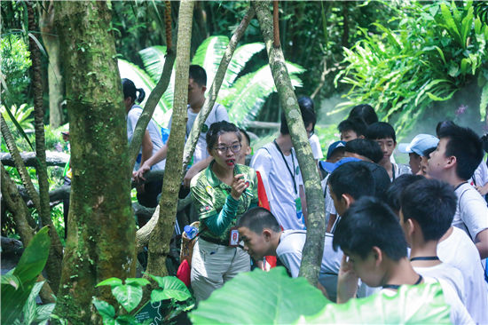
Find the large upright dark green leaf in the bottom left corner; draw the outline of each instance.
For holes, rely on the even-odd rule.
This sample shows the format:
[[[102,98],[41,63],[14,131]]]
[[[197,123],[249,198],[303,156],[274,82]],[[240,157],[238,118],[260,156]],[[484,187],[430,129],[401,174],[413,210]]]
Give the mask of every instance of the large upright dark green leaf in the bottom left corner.
[[[51,246],[48,232],[49,227],[44,226],[35,234],[13,270],[12,274],[20,281],[19,288],[15,289],[10,283],[2,283],[1,313],[4,324],[12,324],[20,317],[22,308],[34,288],[37,276],[43,271]]]

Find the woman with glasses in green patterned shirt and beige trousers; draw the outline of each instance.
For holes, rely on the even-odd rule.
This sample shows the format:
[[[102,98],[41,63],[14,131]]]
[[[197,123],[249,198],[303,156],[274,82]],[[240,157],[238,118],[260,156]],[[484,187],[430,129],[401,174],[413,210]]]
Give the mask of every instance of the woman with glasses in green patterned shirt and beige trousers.
[[[214,160],[190,186],[200,218],[191,274],[197,302],[237,273],[249,271],[249,255],[239,247],[235,225],[240,215],[257,206],[257,182],[255,170],[236,164],[240,139],[240,131],[232,123],[210,125],[207,150]]]

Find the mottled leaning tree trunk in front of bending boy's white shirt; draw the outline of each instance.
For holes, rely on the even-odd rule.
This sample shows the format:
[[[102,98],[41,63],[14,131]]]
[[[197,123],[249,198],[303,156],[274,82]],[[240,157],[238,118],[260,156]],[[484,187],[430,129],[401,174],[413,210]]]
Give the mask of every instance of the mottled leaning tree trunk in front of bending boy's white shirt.
[[[273,46],[272,12],[268,2],[252,3],[256,10],[257,20],[263,33],[264,43],[272,68],[272,76],[279,94],[279,102],[287,118],[296,157],[302,170],[303,184],[308,205],[307,239],[303,246],[300,276],[305,277],[312,285],[319,281],[319,271],[324,250],[326,234],[324,200],[317,165],[311,153],[302,115],[298,107],[295,91],[287,72],[285,58],[280,47]]]

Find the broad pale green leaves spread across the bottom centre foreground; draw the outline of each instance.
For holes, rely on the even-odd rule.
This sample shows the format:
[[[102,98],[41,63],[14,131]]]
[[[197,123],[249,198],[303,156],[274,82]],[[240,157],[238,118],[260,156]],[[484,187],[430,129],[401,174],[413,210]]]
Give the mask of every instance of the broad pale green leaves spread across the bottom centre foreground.
[[[403,286],[392,297],[378,294],[337,305],[304,278],[292,279],[283,267],[276,267],[267,273],[238,274],[202,301],[190,319],[196,325],[420,324],[448,323],[449,312],[438,283]]]

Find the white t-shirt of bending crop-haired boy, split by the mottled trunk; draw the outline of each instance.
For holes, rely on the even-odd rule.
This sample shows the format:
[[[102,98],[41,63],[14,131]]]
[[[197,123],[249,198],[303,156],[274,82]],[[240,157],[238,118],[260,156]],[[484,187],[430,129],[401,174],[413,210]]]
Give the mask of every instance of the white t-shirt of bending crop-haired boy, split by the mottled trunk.
[[[279,238],[276,255],[287,267],[292,277],[297,277],[302,263],[302,250],[307,233],[304,230],[285,230]],[[337,274],[341,267],[342,251],[332,248],[333,235],[326,233],[324,254],[319,272],[319,282],[327,290],[328,296],[335,301],[337,296]]]

